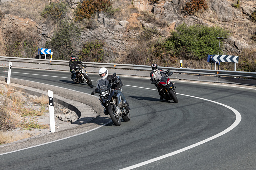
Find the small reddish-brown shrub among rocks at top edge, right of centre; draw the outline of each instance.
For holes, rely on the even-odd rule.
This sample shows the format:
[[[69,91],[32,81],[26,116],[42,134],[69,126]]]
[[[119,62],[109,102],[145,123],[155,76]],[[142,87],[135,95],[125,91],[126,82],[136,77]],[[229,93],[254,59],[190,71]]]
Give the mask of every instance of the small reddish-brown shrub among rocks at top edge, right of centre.
[[[191,0],[190,2],[186,3],[184,10],[188,14],[193,15],[196,12],[203,13],[207,8],[208,5],[205,0]]]

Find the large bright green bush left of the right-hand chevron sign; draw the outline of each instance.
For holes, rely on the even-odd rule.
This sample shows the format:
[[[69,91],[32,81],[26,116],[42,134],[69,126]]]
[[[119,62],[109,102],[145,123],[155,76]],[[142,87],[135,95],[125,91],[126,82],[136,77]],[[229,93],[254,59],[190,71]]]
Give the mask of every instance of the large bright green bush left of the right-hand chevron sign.
[[[161,57],[160,54],[170,54],[186,59],[205,59],[207,54],[218,54],[219,40],[215,38],[220,36],[227,38],[229,33],[220,27],[182,24],[165,42],[158,45],[155,54],[157,57]],[[220,46],[222,44],[221,41]]]

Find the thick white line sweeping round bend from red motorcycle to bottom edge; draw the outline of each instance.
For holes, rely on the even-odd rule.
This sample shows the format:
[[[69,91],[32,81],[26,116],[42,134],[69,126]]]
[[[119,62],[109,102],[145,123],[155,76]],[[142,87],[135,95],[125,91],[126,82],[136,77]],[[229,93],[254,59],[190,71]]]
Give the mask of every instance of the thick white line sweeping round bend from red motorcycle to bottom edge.
[[[178,94],[178,93],[177,93],[177,94]],[[194,98],[197,98],[197,99],[206,100],[206,101],[209,101],[209,102],[213,102],[213,103],[222,105],[222,106],[224,106],[224,107],[226,107],[226,108],[232,110],[232,111],[235,113],[235,115],[236,115],[235,122],[234,122],[230,127],[228,127],[227,129],[225,129],[224,131],[222,131],[222,132],[220,132],[220,133],[218,133],[218,134],[216,134],[216,135],[214,135],[214,136],[212,136],[212,137],[209,137],[209,138],[207,138],[207,139],[205,139],[205,140],[202,140],[202,141],[200,141],[200,142],[198,142],[198,143],[195,143],[195,144],[192,144],[192,145],[187,146],[187,147],[185,147],[185,148],[179,149],[179,150],[177,150],[177,151],[174,151],[174,152],[171,152],[171,153],[168,153],[168,154],[165,154],[165,155],[156,157],[156,158],[154,158],[154,159],[150,159],[150,160],[147,160],[147,161],[144,161],[144,162],[141,162],[141,163],[138,163],[138,164],[135,164],[135,165],[132,165],[132,166],[123,168],[123,169],[121,169],[121,170],[127,170],[127,169],[138,168],[138,167],[140,167],[140,166],[144,166],[144,165],[146,165],[146,164],[150,164],[150,163],[152,163],[152,162],[155,162],[155,161],[158,161],[158,160],[161,160],[161,159],[164,159],[164,158],[173,156],[173,155],[175,155],[175,154],[184,152],[184,151],[186,151],[186,150],[189,150],[189,149],[191,149],[191,148],[194,148],[194,147],[196,147],[196,146],[199,146],[199,145],[201,145],[201,144],[204,144],[204,143],[206,143],[206,142],[208,142],[208,141],[211,141],[211,140],[213,140],[213,139],[215,139],[215,138],[217,138],[217,137],[220,137],[220,136],[226,134],[227,132],[231,131],[232,129],[234,129],[234,128],[240,123],[240,121],[241,121],[241,119],[242,119],[241,114],[240,114],[236,109],[234,109],[234,108],[232,108],[232,107],[230,107],[230,106],[227,106],[227,105],[225,105],[225,104],[222,104],[222,103],[219,103],[219,102],[216,102],[216,101],[211,101],[211,100],[204,99],[204,98],[200,98],[200,97],[195,97],[195,96],[190,96],[190,95],[185,95],[185,94],[180,94],[180,95],[188,96],[188,97],[194,97]]]

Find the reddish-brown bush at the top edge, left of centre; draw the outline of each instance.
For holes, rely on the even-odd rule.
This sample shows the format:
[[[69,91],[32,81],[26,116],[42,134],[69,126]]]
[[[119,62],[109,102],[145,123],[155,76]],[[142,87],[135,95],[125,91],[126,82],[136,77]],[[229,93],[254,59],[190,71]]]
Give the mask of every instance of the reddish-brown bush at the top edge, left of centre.
[[[84,0],[75,9],[76,20],[90,19],[96,12],[107,11],[111,6],[110,0]]]

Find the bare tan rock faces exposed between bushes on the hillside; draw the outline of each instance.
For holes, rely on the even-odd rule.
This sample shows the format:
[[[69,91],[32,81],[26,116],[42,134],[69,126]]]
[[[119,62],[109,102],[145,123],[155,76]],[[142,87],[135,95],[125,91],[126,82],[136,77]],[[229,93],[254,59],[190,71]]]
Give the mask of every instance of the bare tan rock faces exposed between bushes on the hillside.
[[[1,2],[6,1],[1,0]],[[57,0],[54,1],[56,2]],[[51,0],[49,3],[54,1]],[[78,3],[82,1],[66,0],[65,2],[73,11]],[[187,2],[186,0],[160,0],[157,3],[152,2],[148,0],[133,0],[132,4],[140,12],[147,11],[154,14],[158,21],[164,21],[168,23],[168,26],[157,26],[154,23],[138,19],[138,13],[132,13],[127,20],[121,21],[100,13],[96,16],[94,28],[83,30],[81,41],[84,42],[92,39],[104,41],[105,60],[108,62],[115,60],[115,58],[124,54],[128,47],[132,46],[131,42],[139,35],[141,28],[157,28],[159,36],[167,37],[171,30],[174,30],[182,23],[186,23],[187,25],[197,23],[207,26],[220,26],[231,30],[231,36],[224,41],[223,50],[226,54],[238,54],[244,48],[256,48],[255,41],[251,38],[256,32],[256,23],[250,21],[250,15],[255,10],[255,2],[252,0],[240,1],[240,8],[232,7],[233,1],[210,0],[207,1],[208,9],[202,14],[198,13],[196,16],[187,16],[184,13],[183,9]],[[71,19],[73,16],[68,16],[68,18]],[[38,34],[45,34],[44,39],[46,41],[52,38],[54,32],[53,28],[47,27],[46,24],[36,25],[30,19],[22,19],[17,16],[5,14],[0,27],[4,30],[12,25],[19,25],[20,27],[33,26],[37,29]]]

